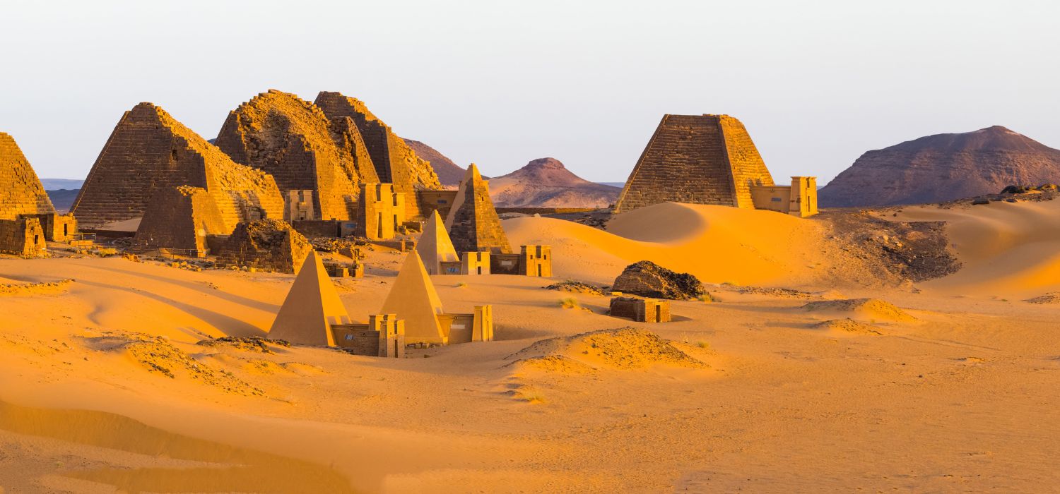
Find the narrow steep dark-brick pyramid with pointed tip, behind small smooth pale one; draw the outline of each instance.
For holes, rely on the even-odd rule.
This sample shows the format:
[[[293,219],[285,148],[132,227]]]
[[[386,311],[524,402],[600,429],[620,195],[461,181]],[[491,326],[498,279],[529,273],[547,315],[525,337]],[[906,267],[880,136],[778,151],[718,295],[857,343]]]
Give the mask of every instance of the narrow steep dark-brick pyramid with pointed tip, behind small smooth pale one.
[[[490,199],[490,184],[482,180],[474,163],[467,167],[464,180],[460,182],[453,207],[445,217],[445,228],[459,253],[512,253],[512,245],[505,228],[500,227],[500,218]]]

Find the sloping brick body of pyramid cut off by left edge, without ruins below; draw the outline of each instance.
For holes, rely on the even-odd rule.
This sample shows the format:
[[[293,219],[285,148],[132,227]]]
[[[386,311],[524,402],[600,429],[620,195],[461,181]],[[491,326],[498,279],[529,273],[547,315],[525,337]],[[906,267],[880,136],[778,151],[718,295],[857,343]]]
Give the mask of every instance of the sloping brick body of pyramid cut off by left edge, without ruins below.
[[[15,139],[0,132],[0,219],[55,213],[40,179]]]

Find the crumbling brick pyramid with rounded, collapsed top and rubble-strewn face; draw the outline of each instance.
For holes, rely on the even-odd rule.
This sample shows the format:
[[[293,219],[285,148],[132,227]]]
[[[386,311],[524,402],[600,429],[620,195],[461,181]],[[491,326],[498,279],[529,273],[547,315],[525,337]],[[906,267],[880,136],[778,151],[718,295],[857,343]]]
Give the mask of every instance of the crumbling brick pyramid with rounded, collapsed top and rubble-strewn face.
[[[379,181],[350,118],[329,120],[312,103],[275,89],[230,112],[215,143],[236,163],[271,175],[284,197],[312,190],[316,207],[307,219],[354,219],[360,184]],[[289,211],[284,219],[292,219]]]

